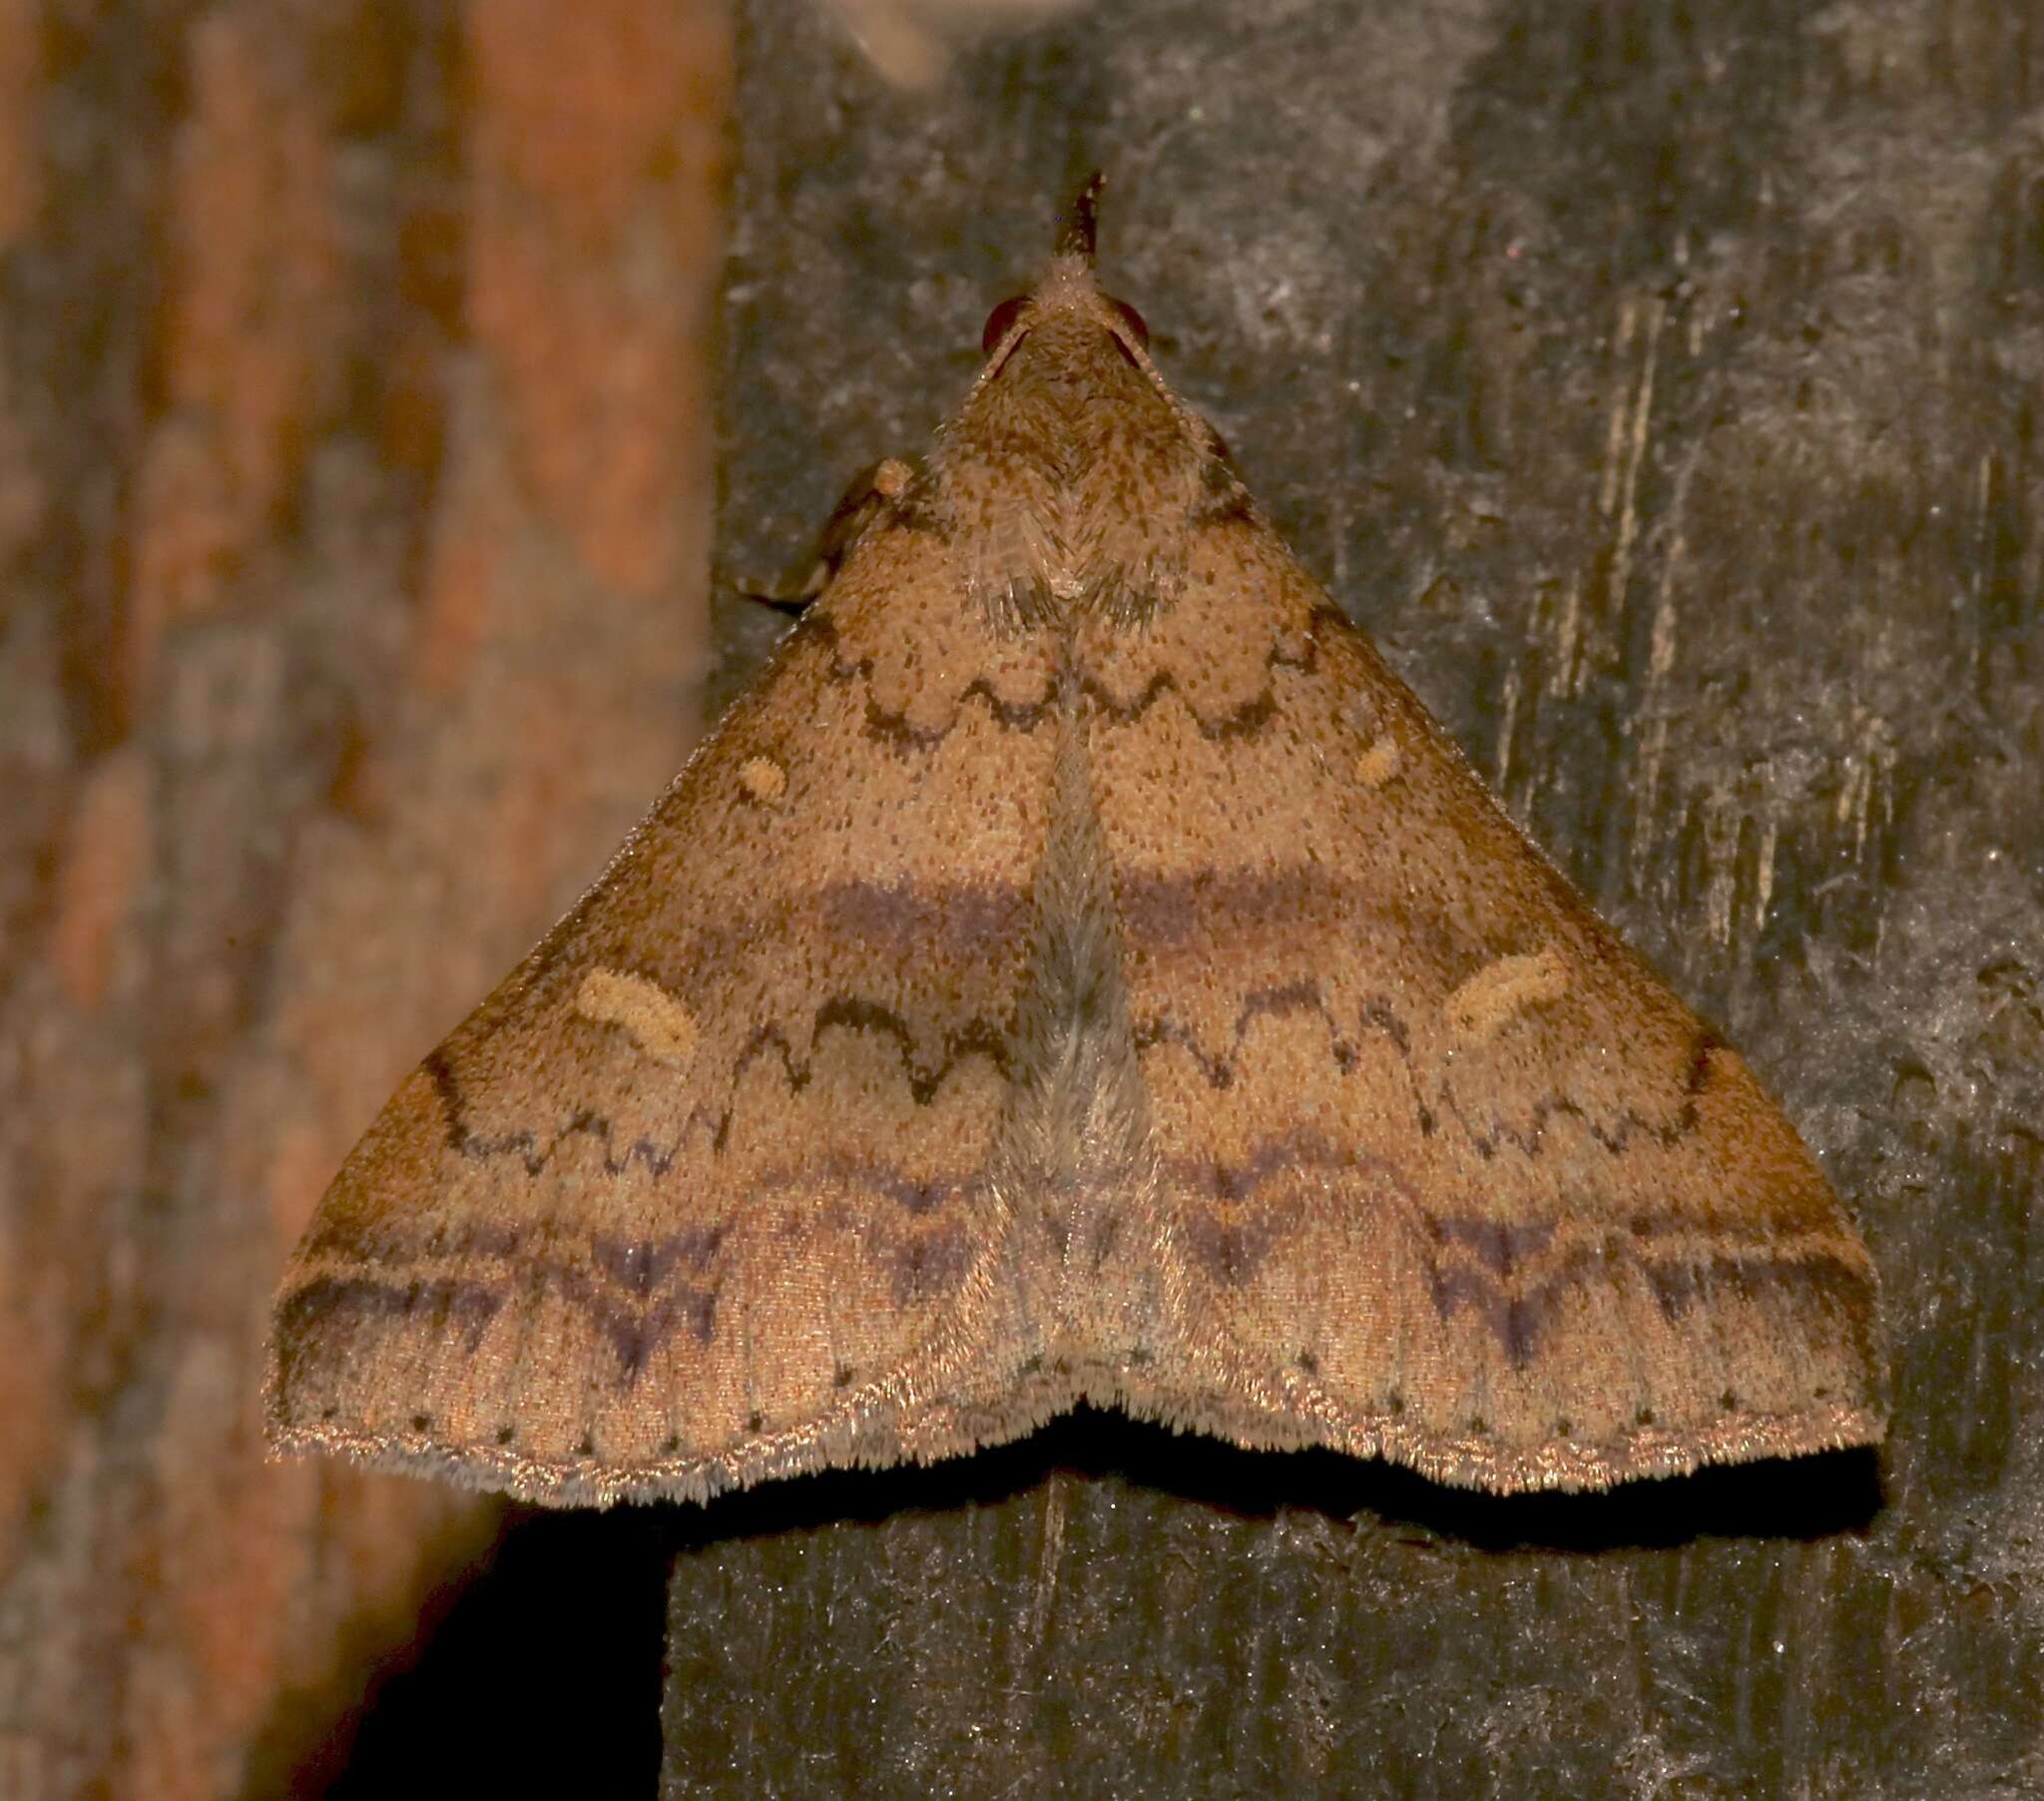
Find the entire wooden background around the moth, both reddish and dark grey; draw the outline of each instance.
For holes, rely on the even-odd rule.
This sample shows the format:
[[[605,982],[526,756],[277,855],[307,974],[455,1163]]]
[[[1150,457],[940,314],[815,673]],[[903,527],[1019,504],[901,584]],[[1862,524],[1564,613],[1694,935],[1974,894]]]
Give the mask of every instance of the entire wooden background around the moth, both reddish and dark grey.
[[[1500,1507],[1091,1417],[435,1597],[493,1511],[266,1466],[258,1343],[687,746],[722,25],[0,0],[0,1795],[2034,1793],[2036,10],[846,10],[893,76],[748,33],[722,564],[1106,164],[1300,554],[1852,1198],[1889,1456]]]

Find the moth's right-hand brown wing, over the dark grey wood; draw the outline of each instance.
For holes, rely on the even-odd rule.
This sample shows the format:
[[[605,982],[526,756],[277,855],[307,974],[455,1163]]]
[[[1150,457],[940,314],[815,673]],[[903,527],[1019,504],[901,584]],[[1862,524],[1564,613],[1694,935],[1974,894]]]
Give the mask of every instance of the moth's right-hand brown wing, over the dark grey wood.
[[[1085,638],[1181,1263],[1136,1404],[1486,1488],[1876,1435],[1872,1269],[1739,1059],[1265,525],[1190,529]]]

